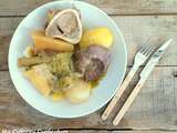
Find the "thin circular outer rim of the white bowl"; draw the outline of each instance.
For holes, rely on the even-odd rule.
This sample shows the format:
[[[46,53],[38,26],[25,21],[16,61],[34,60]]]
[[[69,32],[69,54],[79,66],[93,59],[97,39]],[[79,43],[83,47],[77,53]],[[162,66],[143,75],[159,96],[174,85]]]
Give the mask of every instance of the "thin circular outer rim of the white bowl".
[[[108,19],[108,21],[115,27],[116,32],[118,32],[118,35],[121,37],[122,42],[123,42],[124,54],[125,54],[124,72],[123,72],[123,75],[122,75],[122,78],[121,78],[121,80],[119,80],[119,84],[117,84],[117,86],[116,86],[115,91],[112,93],[112,95],[111,95],[105,102],[103,102],[103,103],[100,104],[98,106],[94,108],[93,110],[90,110],[90,111],[87,111],[87,112],[85,112],[85,113],[82,113],[82,114],[80,114],[80,115],[73,115],[73,116],[71,116],[71,115],[70,115],[70,116],[53,115],[53,114],[51,114],[51,113],[48,113],[48,112],[39,109],[38,106],[34,106],[33,104],[31,104],[31,102],[29,102],[29,101],[25,99],[25,96],[24,96],[23,94],[21,94],[21,92],[19,91],[18,85],[15,84],[15,82],[14,82],[14,80],[13,80],[12,69],[11,69],[11,65],[10,65],[10,64],[11,64],[11,63],[10,63],[10,60],[11,60],[11,59],[10,59],[10,54],[11,54],[11,51],[13,50],[12,47],[11,47],[11,45],[12,45],[12,41],[13,41],[13,38],[15,37],[15,34],[17,34],[17,31],[18,31],[19,27],[21,25],[21,23],[23,23],[23,21],[25,20],[25,18],[28,18],[30,14],[32,14],[33,12],[35,12],[35,10],[39,10],[39,9],[41,9],[41,8],[43,8],[43,7],[48,7],[48,4],[52,4],[52,3],[60,4],[60,3],[65,3],[65,2],[73,2],[73,3],[75,3],[75,4],[77,4],[77,3],[84,3],[84,4],[86,4],[87,7],[92,7],[92,8],[96,9],[100,13],[104,14],[104,16],[106,17],[106,19]],[[35,9],[32,10],[30,13],[28,13],[28,16],[24,17],[24,18],[22,19],[22,21],[19,23],[19,25],[17,27],[17,29],[15,29],[12,38],[11,38],[11,42],[10,42],[10,47],[9,47],[9,53],[8,53],[8,68],[9,68],[10,78],[11,78],[11,80],[12,80],[12,83],[13,83],[15,90],[18,91],[18,93],[20,94],[20,96],[21,96],[30,106],[32,106],[32,108],[35,109],[37,111],[39,111],[39,112],[41,112],[41,113],[43,113],[43,114],[45,114],[45,115],[49,115],[49,116],[61,117],[61,119],[82,117],[82,116],[92,114],[92,113],[96,112],[97,110],[100,110],[101,108],[103,108],[106,103],[108,103],[108,101],[111,101],[111,99],[112,99],[112,98],[114,96],[114,94],[116,93],[117,89],[121,86],[121,84],[122,84],[122,82],[123,82],[123,79],[124,79],[124,76],[125,76],[125,73],[126,73],[126,69],[127,69],[127,45],[126,45],[126,43],[125,43],[125,40],[124,40],[124,37],[123,37],[123,33],[122,33],[121,29],[117,27],[117,24],[114,22],[114,20],[113,20],[107,13],[105,13],[103,10],[101,10],[100,8],[93,6],[93,4],[88,3],[88,2],[79,1],[79,0],[74,0],[74,1],[73,1],[73,0],[67,0],[67,1],[65,1],[65,0],[52,1],[52,2],[48,2],[48,3],[44,3],[44,4],[35,8]]]

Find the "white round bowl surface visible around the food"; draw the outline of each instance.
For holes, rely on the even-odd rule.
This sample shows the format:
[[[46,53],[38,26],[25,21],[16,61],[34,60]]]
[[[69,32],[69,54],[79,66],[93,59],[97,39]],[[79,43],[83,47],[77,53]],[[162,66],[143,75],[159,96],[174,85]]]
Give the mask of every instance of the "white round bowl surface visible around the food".
[[[72,104],[69,101],[53,102],[40,94],[35,88],[23,76],[22,70],[17,66],[17,61],[24,48],[32,44],[31,31],[42,29],[50,9],[66,9],[75,7],[81,11],[84,28],[107,27],[114,34],[112,47],[112,62],[106,76],[93,90],[88,101],[82,104]],[[105,105],[121,85],[127,64],[127,51],[119,28],[103,11],[94,6],[81,1],[54,1],[32,11],[15,30],[9,50],[9,70],[13,84],[20,95],[34,109],[44,114],[56,117],[79,117],[90,114]]]

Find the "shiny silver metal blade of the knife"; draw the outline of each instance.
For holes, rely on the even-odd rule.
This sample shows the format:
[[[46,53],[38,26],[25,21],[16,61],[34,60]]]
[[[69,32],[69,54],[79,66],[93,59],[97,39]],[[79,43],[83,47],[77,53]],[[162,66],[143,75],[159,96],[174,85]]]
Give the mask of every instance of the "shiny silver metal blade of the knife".
[[[166,41],[149,59],[149,61],[146,63],[145,68],[140,72],[140,81],[145,82],[145,80],[148,78],[155,65],[158,63],[159,59],[164,54],[165,50],[168,48],[168,45],[171,43],[173,39],[169,39]]]

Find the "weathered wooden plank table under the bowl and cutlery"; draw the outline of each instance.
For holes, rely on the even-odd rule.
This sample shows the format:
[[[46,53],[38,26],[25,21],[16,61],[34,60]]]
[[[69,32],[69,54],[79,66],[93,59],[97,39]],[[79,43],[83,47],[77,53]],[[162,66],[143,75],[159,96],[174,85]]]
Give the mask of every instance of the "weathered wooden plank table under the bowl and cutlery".
[[[62,129],[70,130],[71,133],[177,132],[176,42],[170,44],[117,126],[111,123],[116,112],[110,120],[101,120],[104,108],[84,117],[62,120],[44,115],[22,100],[9,75],[9,43],[21,20],[37,7],[50,1],[52,0],[0,0],[0,126]],[[107,12],[123,31],[128,49],[127,68],[132,66],[135,53],[144,45],[147,37],[163,34],[177,41],[177,0],[86,1]],[[137,80],[138,76],[132,81],[128,91]],[[121,104],[117,110],[119,106]]]

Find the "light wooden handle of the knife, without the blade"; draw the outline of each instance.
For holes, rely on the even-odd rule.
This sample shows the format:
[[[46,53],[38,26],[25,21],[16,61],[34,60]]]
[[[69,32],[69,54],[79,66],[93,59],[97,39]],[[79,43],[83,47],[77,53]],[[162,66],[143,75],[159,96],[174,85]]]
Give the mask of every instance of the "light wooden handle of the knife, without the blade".
[[[143,84],[144,83],[142,81],[139,81],[137,83],[137,85],[135,86],[135,89],[132,91],[131,95],[128,96],[128,99],[126,100],[126,102],[124,103],[124,105],[122,106],[122,109],[119,110],[117,115],[115,116],[115,119],[113,121],[114,125],[117,125],[119,123],[119,121],[122,120],[122,117],[124,116],[124,114],[126,113],[128,108],[131,106],[132,102],[134,101],[134,99],[136,98],[138,92],[140,91]]]

